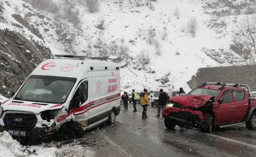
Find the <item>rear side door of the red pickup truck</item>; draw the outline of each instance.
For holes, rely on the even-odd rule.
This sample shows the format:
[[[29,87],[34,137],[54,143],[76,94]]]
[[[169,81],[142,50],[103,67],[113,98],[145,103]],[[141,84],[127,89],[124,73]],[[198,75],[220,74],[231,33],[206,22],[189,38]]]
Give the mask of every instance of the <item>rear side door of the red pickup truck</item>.
[[[235,110],[232,122],[242,122],[247,114],[249,108],[248,95],[243,90],[233,90],[234,103],[233,108]]]

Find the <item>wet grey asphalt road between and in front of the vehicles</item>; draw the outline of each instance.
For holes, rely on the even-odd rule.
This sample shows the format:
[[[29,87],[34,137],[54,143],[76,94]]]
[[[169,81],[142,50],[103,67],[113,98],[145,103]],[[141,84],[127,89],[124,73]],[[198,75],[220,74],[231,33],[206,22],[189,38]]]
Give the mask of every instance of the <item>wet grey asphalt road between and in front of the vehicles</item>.
[[[163,118],[155,117],[157,108],[148,107],[148,119],[141,119],[142,107],[132,104],[128,111],[121,106],[114,126],[100,126],[95,156],[110,157],[255,157],[256,130],[245,125],[234,126],[210,134],[199,129],[187,130],[176,126],[165,128]],[[97,137],[96,137],[97,136]],[[92,137],[91,137],[92,138]]]

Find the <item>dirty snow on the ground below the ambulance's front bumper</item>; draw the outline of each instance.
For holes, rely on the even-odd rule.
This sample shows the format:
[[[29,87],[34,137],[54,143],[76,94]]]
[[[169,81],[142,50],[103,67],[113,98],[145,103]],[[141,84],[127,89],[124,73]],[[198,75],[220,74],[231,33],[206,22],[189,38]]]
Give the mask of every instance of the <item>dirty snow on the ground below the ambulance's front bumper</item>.
[[[68,157],[69,153],[78,157],[85,154],[87,157],[93,157],[94,154],[89,148],[75,143],[62,145],[60,148],[53,144],[22,146],[6,131],[0,132],[0,157]]]

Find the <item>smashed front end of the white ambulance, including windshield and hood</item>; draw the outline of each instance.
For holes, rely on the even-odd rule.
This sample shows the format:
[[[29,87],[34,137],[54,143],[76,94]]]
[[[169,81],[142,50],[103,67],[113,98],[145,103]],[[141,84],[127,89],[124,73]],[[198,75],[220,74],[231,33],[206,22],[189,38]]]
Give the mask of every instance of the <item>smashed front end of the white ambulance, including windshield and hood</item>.
[[[42,142],[72,119],[68,100],[77,79],[30,75],[18,92],[0,106],[0,131],[14,139]]]

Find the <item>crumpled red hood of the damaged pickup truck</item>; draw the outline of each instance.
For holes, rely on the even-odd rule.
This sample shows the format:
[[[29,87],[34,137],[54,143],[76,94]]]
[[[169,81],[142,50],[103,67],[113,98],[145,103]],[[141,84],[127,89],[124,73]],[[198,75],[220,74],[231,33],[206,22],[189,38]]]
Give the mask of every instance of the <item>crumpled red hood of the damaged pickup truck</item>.
[[[183,95],[178,97],[171,97],[170,100],[183,106],[201,108],[202,106],[205,106],[206,102],[211,98],[212,96],[210,95]]]

